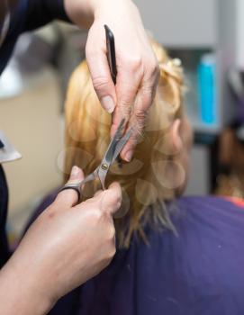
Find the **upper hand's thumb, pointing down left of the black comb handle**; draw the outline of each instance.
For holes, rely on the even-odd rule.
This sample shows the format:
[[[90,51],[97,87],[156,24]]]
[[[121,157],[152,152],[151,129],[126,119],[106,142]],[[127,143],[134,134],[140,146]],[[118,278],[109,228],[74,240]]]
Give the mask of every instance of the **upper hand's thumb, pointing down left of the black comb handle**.
[[[104,110],[112,113],[116,104],[116,93],[106,56],[104,28],[96,30],[93,26],[90,29],[86,41],[86,61],[95,92]]]

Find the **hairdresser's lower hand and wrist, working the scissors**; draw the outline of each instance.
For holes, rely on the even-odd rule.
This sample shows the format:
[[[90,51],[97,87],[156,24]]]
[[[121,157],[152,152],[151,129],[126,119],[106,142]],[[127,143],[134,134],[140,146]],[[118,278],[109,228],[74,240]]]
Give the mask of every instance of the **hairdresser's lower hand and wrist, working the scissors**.
[[[70,182],[83,178],[75,171]],[[59,193],[0,273],[0,313],[44,314],[107,266],[115,253],[112,214],[121,201],[118,184],[78,205],[75,191]]]

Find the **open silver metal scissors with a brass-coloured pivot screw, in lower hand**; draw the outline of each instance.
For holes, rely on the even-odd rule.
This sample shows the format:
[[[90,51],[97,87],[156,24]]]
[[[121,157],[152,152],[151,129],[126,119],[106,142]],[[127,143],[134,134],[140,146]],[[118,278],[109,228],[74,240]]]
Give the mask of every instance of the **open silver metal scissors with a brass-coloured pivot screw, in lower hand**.
[[[82,193],[81,193],[81,187],[83,184],[86,184],[88,182],[94,181],[96,178],[99,179],[100,183],[102,184],[103,189],[105,189],[105,179],[106,175],[108,174],[110,166],[113,165],[113,162],[115,159],[119,156],[119,154],[122,151],[122,148],[130,139],[132,127],[126,131],[126,133],[122,136],[122,131],[125,126],[125,119],[123,119],[116,130],[113,138],[110,141],[110,144],[104,154],[104,158],[102,159],[102,162],[99,166],[95,168],[95,171],[91,173],[90,175],[87,175],[86,178],[78,183],[75,184],[65,184],[60,191],[66,190],[66,189],[74,189],[78,193],[78,199],[80,200]]]

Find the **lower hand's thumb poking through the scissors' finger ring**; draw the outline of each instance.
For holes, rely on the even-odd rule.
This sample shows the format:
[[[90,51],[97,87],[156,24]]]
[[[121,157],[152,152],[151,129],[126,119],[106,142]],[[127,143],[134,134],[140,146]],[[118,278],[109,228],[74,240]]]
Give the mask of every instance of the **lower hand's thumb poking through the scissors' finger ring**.
[[[68,179],[68,184],[75,184],[81,182],[84,179],[84,174],[81,168],[73,166],[70,177]],[[60,192],[55,200],[59,203],[58,209],[71,208],[78,202],[78,193],[74,189],[67,189]]]

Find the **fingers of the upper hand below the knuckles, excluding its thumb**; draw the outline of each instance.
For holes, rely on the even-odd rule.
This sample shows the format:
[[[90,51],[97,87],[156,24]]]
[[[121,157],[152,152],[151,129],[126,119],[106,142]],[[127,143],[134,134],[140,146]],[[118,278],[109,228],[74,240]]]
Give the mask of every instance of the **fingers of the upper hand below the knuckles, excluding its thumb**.
[[[122,159],[127,162],[131,161],[135,146],[143,133],[149,107],[158,85],[158,62],[156,58],[151,59],[154,61],[132,60],[131,63],[127,63],[127,68],[123,67],[122,74],[118,75],[116,85],[118,103],[113,113],[112,136],[122,118],[129,121],[129,127],[133,126],[131,139],[121,153]]]

